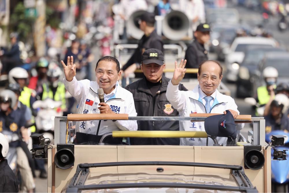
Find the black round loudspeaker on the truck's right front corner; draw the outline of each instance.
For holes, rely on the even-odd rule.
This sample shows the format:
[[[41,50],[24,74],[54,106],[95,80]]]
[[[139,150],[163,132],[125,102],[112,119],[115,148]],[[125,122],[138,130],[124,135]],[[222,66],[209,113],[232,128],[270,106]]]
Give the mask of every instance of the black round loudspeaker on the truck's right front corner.
[[[244,146],[244,168],[259,170],[264,163],[265,157],[261,153],[261,146]]]

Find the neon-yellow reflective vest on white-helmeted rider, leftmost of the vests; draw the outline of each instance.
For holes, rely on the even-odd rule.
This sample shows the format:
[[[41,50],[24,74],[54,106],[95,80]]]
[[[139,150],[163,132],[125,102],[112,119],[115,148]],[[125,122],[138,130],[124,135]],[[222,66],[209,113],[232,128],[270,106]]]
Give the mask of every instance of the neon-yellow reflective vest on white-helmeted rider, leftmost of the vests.
[[[29,89],[28,87],[24,87],[23,91],[21,91],[21,94],[20,94],[18,100],[32,110],[32,104],[36,100],[35,96],[36,96],[35,90]],[[34,99],[32,99],[32,98],[34,98]],[[31,117],[31,123],[34,123],[34,122],[35,122],[35,117],[32,116]],[[36,132],[36,127],[31,126],[30,130],[32,133],[34,133],[34,132]]]

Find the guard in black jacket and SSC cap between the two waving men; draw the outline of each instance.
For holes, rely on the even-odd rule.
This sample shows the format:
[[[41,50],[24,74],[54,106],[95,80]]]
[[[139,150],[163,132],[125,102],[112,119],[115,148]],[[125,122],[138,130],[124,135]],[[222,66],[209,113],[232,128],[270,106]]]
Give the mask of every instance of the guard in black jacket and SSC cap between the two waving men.
[[[138,116],[176,117],[179,113],[168,102],[166,89],[169,78],[162,76],[166,65],[164,54],[159,49],[147,49],[142,54],[140,69],[144,78],[133,82],[125,89],[134,97],[134,105]],[[179,84],[180,91],[187,91]],[[179,121],[138,121],[138,130],[178,131]],[[130,138],[132,145],[179,145],[179,138]]]

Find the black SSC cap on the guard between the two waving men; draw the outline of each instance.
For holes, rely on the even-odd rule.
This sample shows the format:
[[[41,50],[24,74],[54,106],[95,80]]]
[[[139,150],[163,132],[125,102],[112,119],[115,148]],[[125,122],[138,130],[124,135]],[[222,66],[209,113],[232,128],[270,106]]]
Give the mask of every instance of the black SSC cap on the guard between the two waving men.
[[[164,64],[164,54],[159,49],[151,48],[144,51],[141,61],[144,65],[156,63],[158,65]]]

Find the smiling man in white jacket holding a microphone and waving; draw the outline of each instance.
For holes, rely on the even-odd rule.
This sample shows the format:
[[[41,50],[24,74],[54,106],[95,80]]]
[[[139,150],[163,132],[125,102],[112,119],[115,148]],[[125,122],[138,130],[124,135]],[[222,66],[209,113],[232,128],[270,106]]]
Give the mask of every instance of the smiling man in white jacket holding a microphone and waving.
[[[119,62],[116,58],[105,56],[98,60],[95,69],[96,81],[77,81],[76,66],[73,64],[73,56],[67,59],[67,65],[61,61],[64,67],[65,78],[63,79],[67,91],[77,100],[77,114],[92,113],[126,113],[136,116],[134,98],[132,94],[120,87],[118,80],[121,76]],[[104,101],[100,102],[97,90],[104,91]],[[78,121],[76,123],[76,141],[80,138],[88,138],[81,141],[97,143],[101,136],[114,130],[137,130],[136,121],[117,120],[108,121]],[[86,133],[90,135],[83,135]],[[93,135],[93,136],[92,136]],[[97,137],[95,137],[97,135]],[[79,136],[79,137],[78,137]],[[78,138],[78,139],[77,139]],[[97,140],[95,140],[97,139]],[[118,138],[110,139],[108,143],[117,144]],[[115,141],[116,140],[116,141]],[[119,139],[120,142],[122,139]]]

